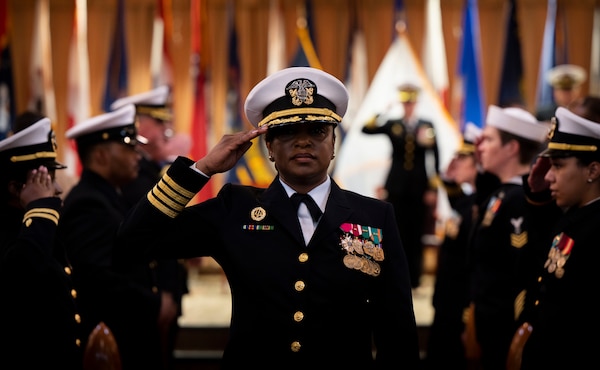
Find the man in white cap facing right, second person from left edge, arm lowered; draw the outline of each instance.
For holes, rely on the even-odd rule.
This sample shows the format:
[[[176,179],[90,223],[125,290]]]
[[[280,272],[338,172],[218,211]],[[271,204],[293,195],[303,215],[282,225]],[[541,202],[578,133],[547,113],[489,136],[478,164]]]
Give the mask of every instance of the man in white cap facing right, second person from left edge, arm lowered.
[[[82,311],[112,329],[123,370],[164,370],[161,329],[176,320],[177,305],[158,289],[149,264],[124,270],[113,264],[114,237],[130,208],[121,187],[137,177],[138,142],[145,141],[136,126],[135,107],[129,104],[67,130],[83,170],[65,197],[58,235],[81,274]]]

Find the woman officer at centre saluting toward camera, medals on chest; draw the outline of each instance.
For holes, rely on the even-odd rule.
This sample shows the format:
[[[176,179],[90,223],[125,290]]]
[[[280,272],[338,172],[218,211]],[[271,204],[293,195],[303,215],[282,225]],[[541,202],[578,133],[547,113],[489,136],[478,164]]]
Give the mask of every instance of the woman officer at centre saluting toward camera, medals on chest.
[[[225,368],[240,358],[264,368],[419,367],[394,209],[340,188],[328,174],[347,104],[343,83],[319,69],[268,76],[244,106],[255,128],[224,135],[196,162],[178,157],[119,229],[125,259],[150,252],[219,260],[233,312],[243,313],[231,321]],[[226,184],[215,198],[187,205],[262,134],[277,169],[268,187]],[[355,320],[365,309],[369,315]]]

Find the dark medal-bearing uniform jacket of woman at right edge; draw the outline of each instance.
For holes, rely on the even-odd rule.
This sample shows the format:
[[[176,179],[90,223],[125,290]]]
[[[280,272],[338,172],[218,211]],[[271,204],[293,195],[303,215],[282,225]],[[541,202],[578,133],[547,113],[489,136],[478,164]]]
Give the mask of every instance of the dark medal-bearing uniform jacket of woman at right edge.
[[[533,209],[539,218],[536,232],[549,238],[536,248],[538,263],[528,266],[536,275],[527,290],[521,320],[529,322],[533,331],[523,349],[521,368],[594,368],[600,345],[595,335],[600,316],[592,302],[600,261],[600,201],[564,214],[554,202]],[[562,261],[552,261],[554,246],[560,250],[556,257],[566,257]]]

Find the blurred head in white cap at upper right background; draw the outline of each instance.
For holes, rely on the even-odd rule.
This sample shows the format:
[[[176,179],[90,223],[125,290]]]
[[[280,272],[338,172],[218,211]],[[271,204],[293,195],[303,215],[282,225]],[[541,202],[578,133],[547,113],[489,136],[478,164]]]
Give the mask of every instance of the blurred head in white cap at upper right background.
[[[581,96],[581,87],[587,79],[585,69],[575,64],[560,64],[546,73],[546,82],[552,86],[553,102],[541,107],[536,116],[539,120],[549,121],[556,108],[566,107]]]

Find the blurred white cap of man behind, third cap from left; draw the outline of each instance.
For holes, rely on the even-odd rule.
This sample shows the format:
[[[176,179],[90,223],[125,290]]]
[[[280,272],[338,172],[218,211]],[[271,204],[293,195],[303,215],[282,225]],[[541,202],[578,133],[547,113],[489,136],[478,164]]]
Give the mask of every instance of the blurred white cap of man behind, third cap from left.
[[[127,104],[134,104],[137,114],[145,114],[159,121],[171,121],[173,119],[170,89],[166,85],[117,99],[110,105],[110,109],[119,109]]]

